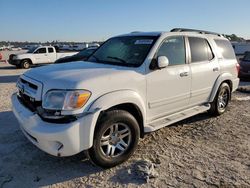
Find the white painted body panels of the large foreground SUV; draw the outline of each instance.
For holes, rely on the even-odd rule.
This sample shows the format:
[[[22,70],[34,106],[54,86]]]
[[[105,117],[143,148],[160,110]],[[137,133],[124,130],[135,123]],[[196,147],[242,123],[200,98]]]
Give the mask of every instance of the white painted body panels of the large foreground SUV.
[[[213,41],[227,40],[224,37],[194,32],[131,33],[124,36],[131,35],[159,35],[144,63],[139,67],[76,62],[40,67],[21,75],[21,79],[38,87],[33,91],[29,84],[20,80],[17,83],[17,86],[23,88],[24,93],[35,101],[43,101],[45,94],[52,89],[86,89],[92,93],[81,109],[61,111],[61,115],[80,114],[76,121],[64,124],[45,122],[36,113],[24,107],[17,100],[17,94],[14,94],[13,112],[22,131],[32,143],[51,155],[74,155],[92,147],[100,112],[113,106],[134,104],[141,112],[144,131],[150,132],[209,109],[209,102],[213,101],[223,81],[232,82],[232,91],[238,87],[237,60],[223,59]],[[162,41],[170,36],[206,38],[214,51],[213,60],[150,70],[149,65],[157,49]],[[188,57],[190,52],[186,50]],[[187,75],[181,77],[182,73]],[[203,104],[205,106],[202,108],[197,107]],[[181,117],[182,112],[187,114]],[[162,120],[168,116],[174,119],[170,123],[164,123]],[[60,147],[61,144],[63,147]]]

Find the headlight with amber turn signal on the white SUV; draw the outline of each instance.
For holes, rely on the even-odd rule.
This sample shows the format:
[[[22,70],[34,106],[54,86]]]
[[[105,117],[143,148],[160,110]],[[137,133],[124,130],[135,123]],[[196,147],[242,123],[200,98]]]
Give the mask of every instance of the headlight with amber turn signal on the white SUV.
[[[42,106],[47,110],[77,110],[83,107],[91,96],[87,90],[50,90]]]

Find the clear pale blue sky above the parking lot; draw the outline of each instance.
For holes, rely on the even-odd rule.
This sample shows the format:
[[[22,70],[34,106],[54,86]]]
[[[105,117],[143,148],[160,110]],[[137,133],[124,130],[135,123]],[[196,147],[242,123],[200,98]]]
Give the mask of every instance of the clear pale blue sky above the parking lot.
[[[249,0],[0,0],[0,41],[104,41],[175,27],[250,39]]]

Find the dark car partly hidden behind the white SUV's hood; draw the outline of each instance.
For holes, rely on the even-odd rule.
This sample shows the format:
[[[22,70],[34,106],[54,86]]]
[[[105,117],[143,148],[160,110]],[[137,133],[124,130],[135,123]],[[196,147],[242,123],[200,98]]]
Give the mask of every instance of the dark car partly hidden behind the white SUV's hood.
[[[89,56],[91,56],[94,53],[94,51],[96,51],[96,49],[97,49],[97,47],[86,48],[75,55],[60,58],[60,59],[56,60],[55,63],[85,61],[89,58]]]

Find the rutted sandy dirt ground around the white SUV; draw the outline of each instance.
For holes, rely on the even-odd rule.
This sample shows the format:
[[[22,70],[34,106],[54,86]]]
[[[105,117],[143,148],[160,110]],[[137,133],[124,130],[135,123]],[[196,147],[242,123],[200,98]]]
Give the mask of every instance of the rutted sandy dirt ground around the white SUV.
[[[83,154],[52,157],[24,137],[10,103],[23,72],[0,63],[0,187],[250,187],[250,94],[236,92],[220,117],[204,113],[146,135],[128,162],[103,170]]]

